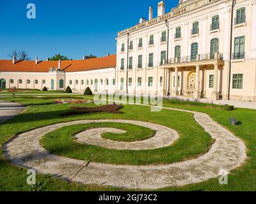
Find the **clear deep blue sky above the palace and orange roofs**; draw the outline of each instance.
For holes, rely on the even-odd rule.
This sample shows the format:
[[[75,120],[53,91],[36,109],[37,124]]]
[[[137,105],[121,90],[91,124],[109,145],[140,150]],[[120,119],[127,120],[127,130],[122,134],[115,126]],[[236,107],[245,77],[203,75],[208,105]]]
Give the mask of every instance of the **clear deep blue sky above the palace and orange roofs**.
[[[160,1],[160,0],[159,0]],[[0,0],[0,59],[12,50],[26,50],[31,59],[54,54],[81,59],[116,53],[116,35],[148,18],[148,7],[157,15],[158,0]],[[166,0],[166,12],[179,0]],[[36,19],[28,19],[28,3],[36,5]]]

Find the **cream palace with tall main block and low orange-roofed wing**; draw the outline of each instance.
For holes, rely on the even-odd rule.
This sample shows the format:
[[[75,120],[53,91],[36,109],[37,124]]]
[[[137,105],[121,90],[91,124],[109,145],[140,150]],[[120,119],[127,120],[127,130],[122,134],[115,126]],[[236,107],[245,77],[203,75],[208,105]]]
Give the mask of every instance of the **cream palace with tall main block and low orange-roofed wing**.
[[[180,0],[118,33],[116,55],[0,61],[2,88],[256,100],[256,1]],[[29,83],[28,83],[29,82]]]

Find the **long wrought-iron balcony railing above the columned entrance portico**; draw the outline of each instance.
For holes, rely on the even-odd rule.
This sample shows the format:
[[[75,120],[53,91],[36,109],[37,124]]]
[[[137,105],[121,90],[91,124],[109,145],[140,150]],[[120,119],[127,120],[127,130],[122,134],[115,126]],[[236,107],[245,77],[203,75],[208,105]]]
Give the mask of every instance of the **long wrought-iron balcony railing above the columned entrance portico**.
[[[209,54],[198,54],[198,55],[190,55],[186,57],[175,57],[172,59],[168,59],[168,64],[175,63],[186,63],[186,62],[195,62],[195,61],[208,61],[214,59],[223,59],[223,54],[219,52],[209,53]]]

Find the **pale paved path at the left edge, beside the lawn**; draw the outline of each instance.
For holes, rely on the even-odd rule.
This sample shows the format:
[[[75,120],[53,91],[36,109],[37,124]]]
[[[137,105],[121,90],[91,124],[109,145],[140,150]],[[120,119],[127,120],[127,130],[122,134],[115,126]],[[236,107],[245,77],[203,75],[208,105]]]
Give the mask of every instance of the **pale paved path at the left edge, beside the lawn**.
[[[24,106],[10,101],[0,101],[0,123],[9,120],[24,110]]]

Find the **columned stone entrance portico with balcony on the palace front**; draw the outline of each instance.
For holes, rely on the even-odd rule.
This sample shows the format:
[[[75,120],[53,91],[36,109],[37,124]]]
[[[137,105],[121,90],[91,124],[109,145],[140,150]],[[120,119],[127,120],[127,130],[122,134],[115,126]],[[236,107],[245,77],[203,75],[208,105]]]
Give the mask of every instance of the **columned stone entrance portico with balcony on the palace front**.
[[[195,99],[205,98],[202,96],[202,85],[200,90],[200,84],[203,84],[200,71],[202,71],[202,69],[213,69],[211,99],[219,99],[218,72],[223,68],[223,65],[223,55],[218,52],[214,54],[196,55],[195,57],[189,56],[169,59],[168,62],[162,66],[163,95],[184,96]],[[180,78],[178,75],[179,72],[181,73]],[[168,76],[166,76],[166,73]],[[178,89],[179,85],[180,89]]]

